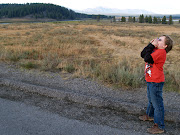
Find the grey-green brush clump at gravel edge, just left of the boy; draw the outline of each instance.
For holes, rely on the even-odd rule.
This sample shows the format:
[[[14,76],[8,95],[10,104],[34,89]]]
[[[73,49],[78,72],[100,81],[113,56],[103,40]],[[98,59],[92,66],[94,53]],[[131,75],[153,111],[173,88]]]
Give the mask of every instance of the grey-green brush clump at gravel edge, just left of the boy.
[[[110,63],[105,68],[104,66],[99,68],[97,70],[100,71],[99,78],[116,87],[138,88],[143,84],[142,70],[138,70],[141,67],[132,68],[127,60],[116,64]]]

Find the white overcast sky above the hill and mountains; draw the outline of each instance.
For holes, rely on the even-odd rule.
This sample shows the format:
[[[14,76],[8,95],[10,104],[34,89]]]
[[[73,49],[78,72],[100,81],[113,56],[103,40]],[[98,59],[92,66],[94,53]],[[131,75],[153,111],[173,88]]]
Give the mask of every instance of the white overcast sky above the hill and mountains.
[[[52,3],[73,10],[105,7],[145,9],[161,14],[180,14],[180,0],[3,0],[0,3]]]

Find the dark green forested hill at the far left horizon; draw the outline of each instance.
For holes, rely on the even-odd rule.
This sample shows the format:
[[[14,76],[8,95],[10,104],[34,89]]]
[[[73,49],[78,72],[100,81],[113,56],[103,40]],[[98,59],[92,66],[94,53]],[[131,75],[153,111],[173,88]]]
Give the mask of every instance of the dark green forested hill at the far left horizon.
[[[96,19],[97,15],[76,13],[54,4],[26,3],[26,4],[0,4],[0,18],[25,17],[31,18],[51,18],[56,20],[74,20],[83,18]],[[108,16],[100,15],[101,18]]]

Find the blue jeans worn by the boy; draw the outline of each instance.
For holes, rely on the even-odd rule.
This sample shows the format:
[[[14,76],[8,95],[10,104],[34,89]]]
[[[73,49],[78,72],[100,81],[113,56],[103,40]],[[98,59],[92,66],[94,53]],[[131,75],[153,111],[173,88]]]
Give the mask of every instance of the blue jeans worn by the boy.
[[[164,129],[163,86],[164,82],[147,82],[148,107],[146,114],[154,117],[154,123],[158,124],[160,129]]]

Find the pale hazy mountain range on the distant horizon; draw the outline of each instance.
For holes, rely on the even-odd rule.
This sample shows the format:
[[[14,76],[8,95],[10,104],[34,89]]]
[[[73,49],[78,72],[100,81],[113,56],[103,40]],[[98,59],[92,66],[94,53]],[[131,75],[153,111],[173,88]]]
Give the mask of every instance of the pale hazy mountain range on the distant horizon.
[[[77,11],[77,10],[76,10]],[[139,15],[139,14],[155,14],[151,11],[143,10],[143,9],[115,9],[115,8],[88,8],[85,10],[79,10],[77,12],[85,13],[85,14],[104,14],[104,15]]]

